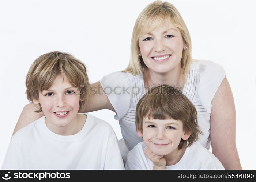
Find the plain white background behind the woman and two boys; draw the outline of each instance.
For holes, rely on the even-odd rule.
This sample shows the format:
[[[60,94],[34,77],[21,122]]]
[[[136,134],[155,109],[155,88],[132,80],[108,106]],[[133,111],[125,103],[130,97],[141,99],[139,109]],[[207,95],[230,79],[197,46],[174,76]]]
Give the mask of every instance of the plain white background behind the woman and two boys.
[[[129,62],[133,25],[151,0],[0,1],[0,166],[25,106],[31,63],[50,51],[82,60],[90,83],[123,70]],[[236,145],[244,169],[256,169],[256,1],[172,0],[192,39],[192,56],[224,66],[236,104]],[[114,112],[108,121],[121,138]],[[61,151],[60,151],[61,152]]]

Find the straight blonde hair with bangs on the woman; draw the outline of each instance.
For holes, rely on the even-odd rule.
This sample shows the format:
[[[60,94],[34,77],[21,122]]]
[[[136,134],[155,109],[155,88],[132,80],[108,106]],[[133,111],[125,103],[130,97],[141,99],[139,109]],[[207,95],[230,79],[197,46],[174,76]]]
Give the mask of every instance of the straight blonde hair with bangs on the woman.
[[[142,57],[139,56],[139,37],[147,32],[153,31],[162,24],[165,24],[167,28],[171,28],[168,27],[170,22],[180,30],[184,43],[187,44],[187,50],[183,50],[181,58],[182,74],[184,78],[187,76],[192,59],[191,38],[188,28],[174,5],[162,1],[154,1],[149,4],[138,16],[132,32],[130,62],[123,72],[129,72],[133,75],[142,75],[144,62]]]

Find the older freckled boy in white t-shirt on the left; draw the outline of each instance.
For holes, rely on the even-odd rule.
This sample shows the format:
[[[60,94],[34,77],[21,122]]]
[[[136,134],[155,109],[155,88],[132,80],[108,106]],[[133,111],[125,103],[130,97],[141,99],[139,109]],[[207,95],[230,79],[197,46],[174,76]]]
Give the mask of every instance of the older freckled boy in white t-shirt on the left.
[[[27,98],[45,116],[16,132],[2,169],[124,169],[112,127],[78,114],[89,81],[72,55],[50,52],[31,65]]]

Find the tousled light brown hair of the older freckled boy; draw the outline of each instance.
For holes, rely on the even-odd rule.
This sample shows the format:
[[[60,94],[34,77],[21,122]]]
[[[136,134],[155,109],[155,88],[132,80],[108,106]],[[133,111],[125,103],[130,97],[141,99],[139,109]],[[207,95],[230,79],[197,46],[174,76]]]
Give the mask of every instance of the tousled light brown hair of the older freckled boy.
[[[33,62],[26,76],[27,99],[32,103],[33,99],[39,100],[39,92],[48,90],[58,75],[79,88],[80,99],[83,100],[79,101],[80,110],[89,88],[86,66],[74,56],[59,51],[43,54]],[[42,107],[35,112],[42,112]]]

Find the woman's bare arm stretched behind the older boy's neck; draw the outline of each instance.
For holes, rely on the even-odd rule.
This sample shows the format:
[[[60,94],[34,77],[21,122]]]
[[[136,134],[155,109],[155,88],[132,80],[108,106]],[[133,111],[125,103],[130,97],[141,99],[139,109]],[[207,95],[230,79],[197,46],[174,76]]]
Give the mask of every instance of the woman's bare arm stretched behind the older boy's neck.
[[[23,108],[19,116],[19,120],[14,128],[13,135],[21,128],[44,116],[44,113],[42,112],[34,112],[37,109],[38,108],[35,107],[32,103],[27,104]],[[109,109],[115,112],[113,106],[109,102],[107,95],[103,91],[101,84],[99,82],[95,82],[90,85],[86,103],[83,105],[80,112],[92,112],[101,109]]]

